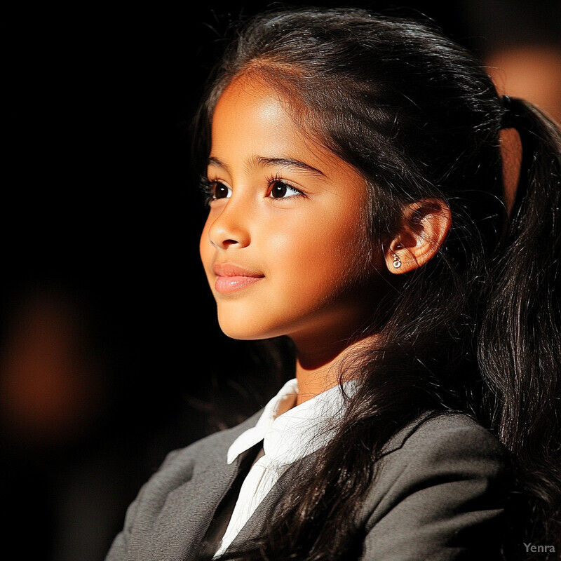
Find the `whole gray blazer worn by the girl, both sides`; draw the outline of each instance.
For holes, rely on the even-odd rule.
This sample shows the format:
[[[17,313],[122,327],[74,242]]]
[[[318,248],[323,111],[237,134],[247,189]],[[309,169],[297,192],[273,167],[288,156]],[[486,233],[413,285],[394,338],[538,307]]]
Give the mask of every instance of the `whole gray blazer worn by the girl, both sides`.
[[[259,414],[168,454],[128,508],[106,561],[196,561],[238,470],[236,462],[227,465],[227,450]],[[417,419],[404,428],[384,448],[360,511],[360,560],[500,559],[504,459],[494,436],[463,414]],[[259,534],[292,474],[309,461],[297,461],[284,473],[231,549]]]

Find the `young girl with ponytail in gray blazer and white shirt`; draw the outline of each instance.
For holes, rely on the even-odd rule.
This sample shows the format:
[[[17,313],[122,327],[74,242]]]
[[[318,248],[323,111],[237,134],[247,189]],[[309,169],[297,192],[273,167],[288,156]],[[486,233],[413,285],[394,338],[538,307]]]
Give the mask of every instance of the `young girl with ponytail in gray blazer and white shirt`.
[[[555,558],[557,126],[430,25],[295,9],[241,29],[195,141],[220,327],[295,379],[172,452],[107,561]]]

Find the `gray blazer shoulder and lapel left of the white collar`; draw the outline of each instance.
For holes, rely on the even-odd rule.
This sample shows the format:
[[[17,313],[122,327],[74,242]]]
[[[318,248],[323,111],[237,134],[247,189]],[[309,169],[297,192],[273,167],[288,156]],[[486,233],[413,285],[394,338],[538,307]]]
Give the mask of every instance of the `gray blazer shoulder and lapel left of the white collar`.
[[[226,461],[229,446],[259,414],[170,452],[128,507],[106,560],[183,559],[236,473]]]

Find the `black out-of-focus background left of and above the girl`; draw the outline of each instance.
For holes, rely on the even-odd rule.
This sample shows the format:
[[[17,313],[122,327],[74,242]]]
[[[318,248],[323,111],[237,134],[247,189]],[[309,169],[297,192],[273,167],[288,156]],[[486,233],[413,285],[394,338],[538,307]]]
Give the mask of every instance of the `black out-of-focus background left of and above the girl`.
[[[217,327],[188,134],[222,30],[263,6],[5,14],[1,527],[29,558],[102,560],[165,452],[272,391]],[[482,56],[559,22],[545,2],[405,6]]]

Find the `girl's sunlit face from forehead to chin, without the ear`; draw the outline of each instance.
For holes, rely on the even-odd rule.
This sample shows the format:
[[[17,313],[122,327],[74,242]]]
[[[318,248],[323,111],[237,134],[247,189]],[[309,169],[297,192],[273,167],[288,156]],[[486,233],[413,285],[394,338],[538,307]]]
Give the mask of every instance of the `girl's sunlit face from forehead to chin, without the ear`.
[[[219,99],[201,257],[219,324],[236,339],[341,342],[381,292],[367,184],[299,129],[275,90],[241,78]]]

